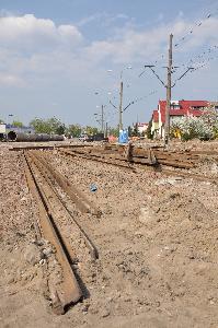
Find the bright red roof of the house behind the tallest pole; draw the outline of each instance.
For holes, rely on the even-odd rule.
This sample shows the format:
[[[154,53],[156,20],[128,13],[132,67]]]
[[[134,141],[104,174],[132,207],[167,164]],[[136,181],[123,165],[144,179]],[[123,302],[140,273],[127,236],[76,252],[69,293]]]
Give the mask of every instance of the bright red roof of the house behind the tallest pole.
[[[207,107],[208,102],[206,101],[179,101],[174,103],[174,106],[180,106],[179,108],[173,108],[173,103],[171,103],[170,116],[202,116],[203,112],[200,108]],[[159,101],[159,108],[161,113],[161,121],[165,121],[165,106],[167,101]],[[199,109],[198,109],[199,108]]]

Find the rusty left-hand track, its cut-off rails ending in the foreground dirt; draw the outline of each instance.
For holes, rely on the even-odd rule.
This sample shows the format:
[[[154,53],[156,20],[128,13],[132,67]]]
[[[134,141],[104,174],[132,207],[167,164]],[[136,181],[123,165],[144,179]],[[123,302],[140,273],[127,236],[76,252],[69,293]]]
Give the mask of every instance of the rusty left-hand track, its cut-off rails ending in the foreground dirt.
[[[55,247],[56,258],[62,271],[61,282],[57,285],[54,286],[48,280],[48,288],[53,294],[53,309],[57,314],[64,314],[69,305],[83,297],[73,266],[77,258],[83,258],[84,261],[85,256],[96,259],[97,251],[66,206],[58,189],[61,187],[68,192],[82,213],[96,214],[96,208],[92,207],[87,199],[82,199],[81,194],[72,192],[70,184],[66,183],[65,177],[58,175],[42,154],[24,151],[24,159],[27,185],[38,208],[39,219],[35,222],[37,236],[43,236]],[[81,245],[84,247],[81,248]]]

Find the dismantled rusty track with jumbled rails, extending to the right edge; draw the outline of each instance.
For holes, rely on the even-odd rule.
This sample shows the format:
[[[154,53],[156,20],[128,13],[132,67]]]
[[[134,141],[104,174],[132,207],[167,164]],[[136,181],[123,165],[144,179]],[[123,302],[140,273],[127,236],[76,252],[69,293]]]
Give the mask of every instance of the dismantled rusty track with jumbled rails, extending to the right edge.
[[[200,174],[194,174],[190,172],[190,168],[197,167],[200,157],[207,156],[208,152],[206,151],[193,151],[193,152],[173,152],[170,155],[162,150],[154,150],[149,153],[148,150],[136,149],[134,161],[133,153],[130,154],[130,159],[128,157],[128,152],[124,147],[121,149],[112,147],[111,149],[92,149],[83,150],[83,149],[59,149],[58,152],[62,155],[84,159],[88,161],[95,161],[100,163],[106,163],[110,165],[123,167],[126,169],[130,169],[131,172],[138,172],[138,169],[151,169],[152,172],[159,172],[168,176],[181,176],[184,178],[193,178],[199,181],[208,181],[213,184],[217,184],[218,180],[216,177],[207,177]],[[146,157],[144,159],[144,155]],[[218,161],[218,152],[209,152],[209,156],[214,156],[215,161]],[[159,159],[156,161],[156,159]],[[174,169],[172,169],[173,167]]]

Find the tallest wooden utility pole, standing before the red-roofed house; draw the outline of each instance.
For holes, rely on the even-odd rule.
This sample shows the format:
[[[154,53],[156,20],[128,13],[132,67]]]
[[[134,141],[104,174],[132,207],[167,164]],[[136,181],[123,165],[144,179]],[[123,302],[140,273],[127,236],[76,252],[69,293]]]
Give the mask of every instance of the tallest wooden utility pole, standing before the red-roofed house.
[[[173,51],[172,51],[173,35],[170,35],[169,46],[169,62],[168,62],[168,84],[167,84],[167,106],[165,106],[165,125],[164,125],[164,144],[169,143],[170,139],[170,107],[171,107],[171,89],[172,89],[172,63],[173,63]]]

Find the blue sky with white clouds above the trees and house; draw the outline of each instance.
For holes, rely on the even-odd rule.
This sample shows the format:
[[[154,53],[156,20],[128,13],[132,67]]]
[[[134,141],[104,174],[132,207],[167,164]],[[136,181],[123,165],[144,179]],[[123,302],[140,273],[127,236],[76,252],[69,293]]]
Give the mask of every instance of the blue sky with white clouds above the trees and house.
[[[147,122],[171,33],[172,99],[218,101],[217,31],[218,0],[0,0],[0,118],[115,127],[122,80],[124,126]]]

